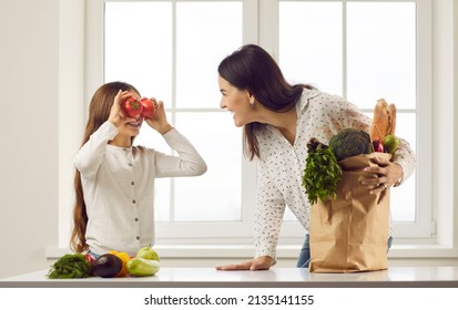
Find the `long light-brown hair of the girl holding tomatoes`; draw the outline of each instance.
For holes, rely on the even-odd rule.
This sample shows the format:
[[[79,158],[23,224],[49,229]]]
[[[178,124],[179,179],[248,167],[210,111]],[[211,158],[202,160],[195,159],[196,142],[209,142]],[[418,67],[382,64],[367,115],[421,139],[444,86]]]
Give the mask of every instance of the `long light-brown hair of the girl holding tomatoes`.
[[[81,146],[89,141],[90,136],[99,130],[104,122],[106,122],[114,97],[120,90],[132,91],[140,95],[134,86],[124,82],[110,82],[100,86],[92,96],[89,106],[89,120]],[[75,192],[75,204],[73,208],[73,229],[70,237],[70,248],[75,252],[82,252],[89,249],[85,240],[88,214],[81,184],[81,174],[78,169],[74,172],[73,186]]]

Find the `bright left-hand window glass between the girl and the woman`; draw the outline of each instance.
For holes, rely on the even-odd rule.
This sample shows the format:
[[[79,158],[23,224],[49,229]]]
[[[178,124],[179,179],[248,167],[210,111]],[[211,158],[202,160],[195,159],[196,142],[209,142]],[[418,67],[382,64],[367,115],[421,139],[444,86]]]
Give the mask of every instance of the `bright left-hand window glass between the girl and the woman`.
[[[164,101],[208,165],[197,178],[157,179],[160,223],[242,220],[241,138],[218,108],[216,83],[218,61],[242,44],[242,12],[241,1],[105,2],[105,81],[126,79]],[[138,22],[120,22],[126,16]],[[119,38],[130,39],[120,46]],[[135,143],[167,149],[149,126]]]

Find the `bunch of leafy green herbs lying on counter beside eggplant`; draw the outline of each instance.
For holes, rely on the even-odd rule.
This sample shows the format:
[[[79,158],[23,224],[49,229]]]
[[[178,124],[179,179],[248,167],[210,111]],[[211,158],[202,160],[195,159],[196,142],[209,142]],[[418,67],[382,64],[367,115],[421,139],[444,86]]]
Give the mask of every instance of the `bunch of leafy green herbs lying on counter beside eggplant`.
[[[59,258],[48,272],[50,279],[91,277],[91,261],[83,254],[67,254]]]

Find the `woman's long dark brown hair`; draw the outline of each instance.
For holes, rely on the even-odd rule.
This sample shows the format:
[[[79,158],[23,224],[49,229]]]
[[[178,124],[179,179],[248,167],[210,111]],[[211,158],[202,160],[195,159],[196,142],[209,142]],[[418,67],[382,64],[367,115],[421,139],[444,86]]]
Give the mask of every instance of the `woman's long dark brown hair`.
[[[226,56],[218,65],[221,78],[238,90],[247,90],[256,101],[275,112],[287,112],[296,105],[308,84],[291,85],[286,82],[275,60],[261,46],[243,45]],[[244,153],[253,159],[259,157],[256,130],[264,124],[253,122],[244,125]]]

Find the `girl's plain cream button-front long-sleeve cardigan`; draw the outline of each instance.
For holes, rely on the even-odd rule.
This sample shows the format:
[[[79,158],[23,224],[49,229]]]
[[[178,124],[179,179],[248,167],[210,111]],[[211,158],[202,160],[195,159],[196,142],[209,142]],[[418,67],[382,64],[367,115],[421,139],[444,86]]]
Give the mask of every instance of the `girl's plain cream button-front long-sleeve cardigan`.
[[[135,256],[141,247],[154,244],[154,178],[202,175],[206,164],[175,128],[163,137],[179,156],[108,144],[118,133],[112,123],[102,124],[81,147],[74,165],[81,173],[90,250]]]

